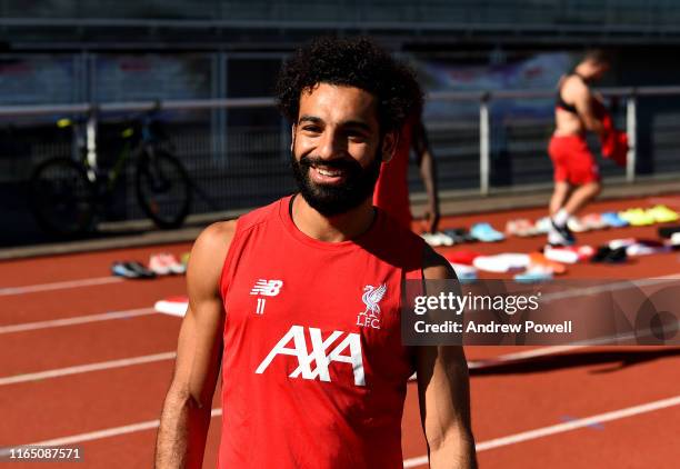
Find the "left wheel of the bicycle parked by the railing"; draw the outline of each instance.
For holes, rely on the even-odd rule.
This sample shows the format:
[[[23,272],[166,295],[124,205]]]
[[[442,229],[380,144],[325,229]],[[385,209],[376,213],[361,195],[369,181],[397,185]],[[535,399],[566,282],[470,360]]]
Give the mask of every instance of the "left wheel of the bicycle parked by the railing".
[[[80,234],[92,222],[94,187],[82,164],[69,158],[52,158],[31,173],[29,201],[43,230],[64,237]]]

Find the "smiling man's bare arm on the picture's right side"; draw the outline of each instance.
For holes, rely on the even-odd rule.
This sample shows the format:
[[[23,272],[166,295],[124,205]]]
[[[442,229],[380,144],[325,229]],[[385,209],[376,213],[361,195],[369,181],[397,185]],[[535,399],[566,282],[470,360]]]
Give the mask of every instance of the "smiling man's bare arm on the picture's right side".
[[[451,266],[430,248],[426,249],[426,279],[454,279]],[[420,347],[417,353],[420,416],[430,467],[477,468],[468,365],[462,347]]]

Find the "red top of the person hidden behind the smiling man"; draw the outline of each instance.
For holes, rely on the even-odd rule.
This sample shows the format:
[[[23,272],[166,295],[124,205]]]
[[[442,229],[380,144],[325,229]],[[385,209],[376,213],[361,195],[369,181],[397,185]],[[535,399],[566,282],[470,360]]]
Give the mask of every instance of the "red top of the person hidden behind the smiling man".
[[[373,191],[373,206],[411,229],[411,203],[409,201],[409,152],[411,150],[412,119],[401,129],[394,157],[380,167],[380,177]]]

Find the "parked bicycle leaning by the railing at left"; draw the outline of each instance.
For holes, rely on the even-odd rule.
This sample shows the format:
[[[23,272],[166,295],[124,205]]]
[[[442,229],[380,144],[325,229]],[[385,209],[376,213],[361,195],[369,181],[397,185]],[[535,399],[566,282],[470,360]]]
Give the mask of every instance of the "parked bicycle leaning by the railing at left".
[[[121,132],[124,144],[110,169],[98,167],[97,154],[88,158],[84,119],[57,122],[60,128],[73,129],[80,158],[50,158],[33,169],[29,200],[42,229],[61,237],[91,229],[94,216],[112,199],[132,161],[137,200],[143,212],[161,229],[183,223],[191,206],[192,183],[182,163],[168,151],[168,139],[156,112],[143,114],[139,137],[133,126]]]

